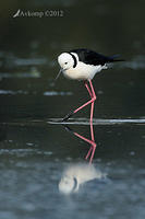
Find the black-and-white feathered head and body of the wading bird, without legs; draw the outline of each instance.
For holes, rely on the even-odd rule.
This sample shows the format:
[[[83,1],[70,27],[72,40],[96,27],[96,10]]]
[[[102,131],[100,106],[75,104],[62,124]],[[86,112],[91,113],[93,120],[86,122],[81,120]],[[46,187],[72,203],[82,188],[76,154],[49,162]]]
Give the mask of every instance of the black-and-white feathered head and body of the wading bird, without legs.
[[[58,57],[61,72],[69,79],[92,80],[96,73],[107,69],[108,62],[121,61],[116,56],[107,57],[90,49],[80,48],[62,53]]]

